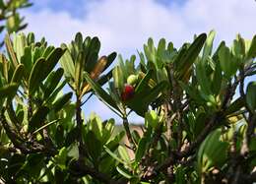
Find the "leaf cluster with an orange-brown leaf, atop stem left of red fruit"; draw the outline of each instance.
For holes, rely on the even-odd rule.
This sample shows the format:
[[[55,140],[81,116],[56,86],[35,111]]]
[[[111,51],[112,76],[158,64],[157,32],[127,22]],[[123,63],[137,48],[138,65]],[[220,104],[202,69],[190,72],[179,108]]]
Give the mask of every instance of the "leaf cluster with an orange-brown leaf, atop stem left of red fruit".
[[[61,58],[61,66],[70,87],[76,92],[80,99],[91,91],[87,84],[85,73],[87,72],[93,80],[100,79],[100,75],[113,62],[116,53],[102,56],[98,59],[100,41],[97,37],[87,36],[83,40],[83,35],[78,32],[75,40],[69,45],[62,44],[62,48],[67,49]],[[101,81],[106,82],[106,81]],[[104,84],[103,83],[103,84]],[[99,86],[103,85],[100,84]]]

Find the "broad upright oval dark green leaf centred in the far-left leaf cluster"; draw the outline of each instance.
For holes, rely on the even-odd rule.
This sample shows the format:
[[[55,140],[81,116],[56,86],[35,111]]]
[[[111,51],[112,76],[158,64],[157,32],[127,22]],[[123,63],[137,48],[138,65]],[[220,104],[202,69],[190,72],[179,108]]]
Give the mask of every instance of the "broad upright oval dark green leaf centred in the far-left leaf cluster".
[[[42,82],[42,69],[44,58],[39,58],[32,67],[32,73],[29,79],[29,94],[32,95],[38,88],[40,83]]]

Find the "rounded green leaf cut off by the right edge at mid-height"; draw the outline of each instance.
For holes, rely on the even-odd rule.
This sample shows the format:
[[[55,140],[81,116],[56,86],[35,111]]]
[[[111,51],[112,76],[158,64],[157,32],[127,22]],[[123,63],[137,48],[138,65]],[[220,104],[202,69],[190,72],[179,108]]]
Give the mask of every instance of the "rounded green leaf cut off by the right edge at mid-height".
[[[246,103],[252,112],[256,110],[256,82],[250,82],[246,90]]]

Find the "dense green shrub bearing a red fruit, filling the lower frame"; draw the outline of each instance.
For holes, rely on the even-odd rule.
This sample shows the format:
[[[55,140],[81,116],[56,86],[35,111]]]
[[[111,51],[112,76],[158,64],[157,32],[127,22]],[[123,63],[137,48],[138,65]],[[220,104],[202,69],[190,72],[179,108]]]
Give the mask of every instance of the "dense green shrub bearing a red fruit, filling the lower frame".
[[[237,35],[212,53],[214,37],[202,33],[179,49],[164,39],[156,47],[150,38],[138,58],[119,55],[106,70],[116,53],[99,57],[97,37],[77,33],[54,47],[33,33],[7,35],[0,55],[1,181],[256,181],[256,82],[245,83],[255,79],[256,36]],[[114,132],[114,119],[84,117],[92,94],[122,118],[124,131]],[[142,132],[130,130],[132,111],[145,118]]]

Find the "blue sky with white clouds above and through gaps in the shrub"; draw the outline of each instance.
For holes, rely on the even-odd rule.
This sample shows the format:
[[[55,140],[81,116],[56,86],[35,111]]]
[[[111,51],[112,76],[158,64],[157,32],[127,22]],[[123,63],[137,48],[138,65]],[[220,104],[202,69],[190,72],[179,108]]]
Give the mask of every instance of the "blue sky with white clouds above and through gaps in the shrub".
[[[77,31],[98,36],[100,53],[117,51],[124,57],[142,50],[152,36],[161,37],[178,47],[192,40],[194,33],[217,31],[220,40],[230,43],[237,32],[245,38],[256,33],[256,2],[254,0],[33,0],[23,11],[29,23],[27,31],[45,36],[58,46],[69,42]],[[96,111],[100,116],[113,116],[96,99],[85,107],[86,116]],[[137,122],[141,121],[133,116]]]

